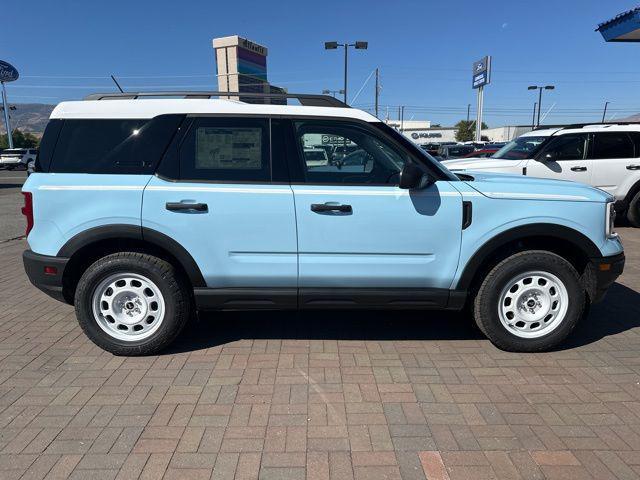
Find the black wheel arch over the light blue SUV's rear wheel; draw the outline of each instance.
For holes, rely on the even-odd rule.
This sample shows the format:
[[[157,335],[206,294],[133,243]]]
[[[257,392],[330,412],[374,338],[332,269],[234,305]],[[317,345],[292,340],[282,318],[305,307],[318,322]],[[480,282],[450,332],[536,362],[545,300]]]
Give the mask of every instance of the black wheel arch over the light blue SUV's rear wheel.
[[[169,236],[136,225],[105,225],[75,235],[58,251],[58,257],[69,258],[62,279],[65,300],[73,303],[77,282],[91,263],[110,253],[127,250],[163,258],[180,271],[191,287],[206,287],[193,257]]]

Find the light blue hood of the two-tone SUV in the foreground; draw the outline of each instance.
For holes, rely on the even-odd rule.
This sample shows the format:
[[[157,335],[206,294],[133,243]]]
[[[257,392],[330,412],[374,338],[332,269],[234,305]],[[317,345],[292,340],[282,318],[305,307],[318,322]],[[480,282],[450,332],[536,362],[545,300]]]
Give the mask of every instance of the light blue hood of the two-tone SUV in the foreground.
[[[467,179],[469,175],[473,179]],[[583,183],[482,171],[465,171],[462,180],[489,198],[608,202],[613,196]]]

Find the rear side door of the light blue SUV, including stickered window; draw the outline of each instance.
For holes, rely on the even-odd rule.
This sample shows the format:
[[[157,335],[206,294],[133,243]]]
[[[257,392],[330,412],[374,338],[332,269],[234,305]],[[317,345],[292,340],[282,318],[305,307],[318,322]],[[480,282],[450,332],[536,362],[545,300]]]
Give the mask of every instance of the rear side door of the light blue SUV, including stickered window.
[[[144,192],[142,226],[193,257],[209,288],[297,288],[293,193],[268,118],[196,117]],[[143,235],[145,230],[143,230]]]

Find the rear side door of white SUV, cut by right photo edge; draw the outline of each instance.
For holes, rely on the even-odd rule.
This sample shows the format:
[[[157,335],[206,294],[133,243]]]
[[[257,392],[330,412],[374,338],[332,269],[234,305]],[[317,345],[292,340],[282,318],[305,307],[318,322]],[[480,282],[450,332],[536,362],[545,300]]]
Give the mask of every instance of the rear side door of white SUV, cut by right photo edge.
[[[640,134],[596,132],[593,136],[592,184],[622,200],[640,178]],[[635,140],[635,142],[634,142]]]

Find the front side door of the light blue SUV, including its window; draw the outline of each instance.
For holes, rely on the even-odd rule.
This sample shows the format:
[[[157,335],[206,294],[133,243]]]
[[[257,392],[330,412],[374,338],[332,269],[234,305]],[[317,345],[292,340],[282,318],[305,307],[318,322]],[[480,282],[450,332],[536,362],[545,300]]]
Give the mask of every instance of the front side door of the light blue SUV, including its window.
[[[402,166],[416,158],[367,124],[300,120],[292,131],[301,305],[357,303],[372,288],[381,289],[379,298],[367,302],[394,302],[398,289],[414,289],[417,305],[448,289],[462,225],[462,199],[452,184],[400,189]],[[350,147],[361,160],[343,165],[330,158],[314,167],[301,149],[315,139]]]

